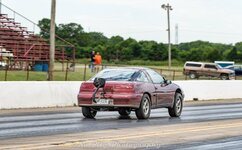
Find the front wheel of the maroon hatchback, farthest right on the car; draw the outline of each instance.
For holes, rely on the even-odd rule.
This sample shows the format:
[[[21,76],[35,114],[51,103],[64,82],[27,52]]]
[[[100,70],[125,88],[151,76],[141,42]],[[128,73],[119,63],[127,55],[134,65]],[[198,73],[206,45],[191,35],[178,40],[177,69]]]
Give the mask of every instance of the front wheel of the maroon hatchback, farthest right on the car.
[[[175,94],[174,104],[168,108],[169,115],[171,117],[179,117],[182,113],[183,97],[180,93]]]

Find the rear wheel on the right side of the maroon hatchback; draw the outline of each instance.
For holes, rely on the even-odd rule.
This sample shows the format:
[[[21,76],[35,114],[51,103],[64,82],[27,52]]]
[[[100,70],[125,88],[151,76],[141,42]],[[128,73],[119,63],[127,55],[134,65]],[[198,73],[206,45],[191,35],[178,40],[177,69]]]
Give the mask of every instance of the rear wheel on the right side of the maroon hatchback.
[[[141,99],[139,108],[135,110],[136,117],[138,119],[148,119],[150,117],[150,109],[150,97],[149,95],[144,94]]]

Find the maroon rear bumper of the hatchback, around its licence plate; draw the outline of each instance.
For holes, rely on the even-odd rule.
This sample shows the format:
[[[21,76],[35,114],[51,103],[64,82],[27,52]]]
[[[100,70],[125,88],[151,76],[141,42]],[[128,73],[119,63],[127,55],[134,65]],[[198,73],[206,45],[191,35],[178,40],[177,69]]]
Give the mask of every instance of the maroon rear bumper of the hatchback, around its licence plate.
[[[112,104],[97,104],[92,101],[92,94],[78,94],[78,105],[87,107],[130,107],[139,108],[142,94],[105,94],[97,98],[111,99]]]

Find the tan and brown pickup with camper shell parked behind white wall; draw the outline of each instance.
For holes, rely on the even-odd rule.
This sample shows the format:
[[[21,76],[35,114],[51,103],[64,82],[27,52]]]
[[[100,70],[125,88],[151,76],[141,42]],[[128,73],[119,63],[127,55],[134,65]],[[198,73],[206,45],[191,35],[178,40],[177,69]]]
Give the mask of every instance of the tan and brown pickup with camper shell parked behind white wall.
[[[184,64],[183,74],[188,75],[191,79],[200,76],[217,77],[222,80],[231,80],[235,78],[234,71],[224,69],[215,63],[202,63],[187,61]]]

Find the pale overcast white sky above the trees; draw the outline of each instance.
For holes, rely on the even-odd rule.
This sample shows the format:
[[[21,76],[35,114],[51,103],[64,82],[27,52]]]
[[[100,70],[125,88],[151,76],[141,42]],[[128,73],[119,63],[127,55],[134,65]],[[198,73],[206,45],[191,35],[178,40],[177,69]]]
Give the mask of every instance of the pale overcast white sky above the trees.
[[[196,40],[235,44],[242,41],[241,0],[56,0],[56,23],[78,23],[86,32],[101,32],[107,37],[120,35],[138,41],[167,43],[167,12],[170,4],[171,42]],[[2,0],[2,3],[38,23],[50,18],[51,0]],[[9,16],[13,13],[2,8]],[[30,30],[38,29],[26,21],[16,20]]]

